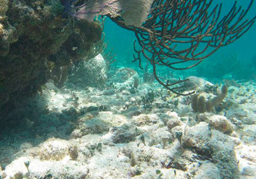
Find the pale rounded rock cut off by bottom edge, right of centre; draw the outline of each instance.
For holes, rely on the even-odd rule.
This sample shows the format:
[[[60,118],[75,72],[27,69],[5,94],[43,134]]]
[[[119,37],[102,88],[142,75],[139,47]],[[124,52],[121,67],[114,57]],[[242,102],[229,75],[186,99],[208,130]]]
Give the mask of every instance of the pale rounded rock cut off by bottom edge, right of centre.
[[[220,170],[212,163],[203,163],[196,172],[194,179],[221,179]]]

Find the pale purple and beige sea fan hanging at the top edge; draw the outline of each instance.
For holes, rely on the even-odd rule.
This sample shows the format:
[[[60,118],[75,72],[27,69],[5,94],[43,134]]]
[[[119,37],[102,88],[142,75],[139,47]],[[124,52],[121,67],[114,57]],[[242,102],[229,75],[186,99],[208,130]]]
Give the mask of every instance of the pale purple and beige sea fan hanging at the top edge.
[[[68,14],[92,21],[96,15],[122,17],[126,26],[140,27],[153,0],[61,0]]]

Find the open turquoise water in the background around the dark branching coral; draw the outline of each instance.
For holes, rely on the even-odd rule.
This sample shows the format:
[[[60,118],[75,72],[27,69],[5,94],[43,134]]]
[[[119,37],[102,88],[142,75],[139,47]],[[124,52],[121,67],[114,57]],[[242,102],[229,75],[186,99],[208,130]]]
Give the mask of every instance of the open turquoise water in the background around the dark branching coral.
[[[246,1],[238,1],[237,5],[241,5],[242,9],[246,9],[249,0]],[[227,14],[227,12],[230,10],[232,7],[234,1],[232,0],[227,0],[227,1],[220,1],[220,0],[215,0],[212,6],[217,5],[222,3],[222,13],[221,17],[223,15]],[[255,16],[256,12],[256,2],[253,3],[250,11],[248,12],[247,16],[245,19],[250,19],[253,16]],[[244,20],[245,20],[244,19]],[[135,34],[129,30],[123,29],[113,23],[109,18],[106,18],[105,20],[105,26],[104,26],[104,32],[105,32],[105,40],[109,41],[109,47],[113,47],[114,53],[117,54],[117,62],[116,65],[123,65],[123,66],[129,66],[131,68],[134,68],[137,70],[137,72],[142,72],[142,70],[139,69],[138,62],[131,62],[133,60],[133,54],[134,54],[134,49],[133,49],[133,42],[136,40]],[[254,75],[252,73],[254,71],[254,68],[256,70],[256,65],[251,65],[253,62],[256,63],[255,59],[253,60],[253,57],[256,55],[256,25],[254,24],[248,31],[245,33],[242,37],[240,37],[238,40],[234,41],[233,43],[229,44],[228,46],[221,47],[217,52],[215,52],[212,56],[209,58],[205,59],[204,62],[199,64],[193,69],[185,70],[185,71],[174,71],[173,73],[177,73],[179,75],[184,75],[185,76],[190,76],[190,75],[195,75],[195,76],[201,76],[205,78],[220,78],[220,75],[211,73],[210,71],[212,70],[217,70],[217,66],[213,66],[214,69],[209,69],[210,73],[205,74],[205,72],[200,72],[202,68],[204,68],[205,65],[211,65],[211,63],[218,64],[220,66],[219,70],[222,70],[223,68],[221,65],[225,65],[223,62],[224,58],[237,58],[238,62],[240,62],[240,69],[242,70],[239,74],[236,75],[231,75],[230,74],[225,74],[226,77],[228,76],[229,78],[233,78],[234,76],[240,76],[240,78],[237,79],[255,79]],[[137,44],[137,48],[138,48]],[[254,57],[255,58],[255,57]],[[146,62],[146,59],[143,59],[142,62]],[[206,64],[205,64],[206,63]],[[205,65],[204,65],[205,64]],[[228,68],[228,66],[227,66]],[[249,68],[249,71],[248,71]],[[251,68],[251,69],[250,69]],[[253,69],[252,69],[253,68]],[[166,69],[166,68],[165,68]],[[228,72],[230,72],[232,69],[227,69]],[[233,69],[235,70],[235,69]],[[202,70],[201,70],[202,71]],[[206,72],[207,73],[207,72]],[[238,73],[238,72],[236,72]],[[245,73],[245,74],[242,74]],[[250,76],[250,77],[249,77]],[[224,77],[225,78],[225,77]]]

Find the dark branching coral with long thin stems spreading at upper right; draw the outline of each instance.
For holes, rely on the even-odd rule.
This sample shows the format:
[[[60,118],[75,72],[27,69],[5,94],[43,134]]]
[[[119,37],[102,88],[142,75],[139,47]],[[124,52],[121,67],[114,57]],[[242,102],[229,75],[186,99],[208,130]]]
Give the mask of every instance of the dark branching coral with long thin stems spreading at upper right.
[[[222,18],[222,5],[212,4],[212,0],[155,0],[142,27],[126,26],[123,18],[112,17],[112,20],[135,32],[141,50],[134,48],[137,53],[134,61],[139,61],[141,69],[143,56],[153,65],[155,78],[161,85],[173,93],[189,95],[191,93],[177,91],[182,86],[173,87],[187,79],[164,82],[157,75],[158,67],[167,66],[174,70],[193,68],[219,48],[240,38],[256,18],[243,20],[253,0],[245,10],[237,7],[235,2]]]

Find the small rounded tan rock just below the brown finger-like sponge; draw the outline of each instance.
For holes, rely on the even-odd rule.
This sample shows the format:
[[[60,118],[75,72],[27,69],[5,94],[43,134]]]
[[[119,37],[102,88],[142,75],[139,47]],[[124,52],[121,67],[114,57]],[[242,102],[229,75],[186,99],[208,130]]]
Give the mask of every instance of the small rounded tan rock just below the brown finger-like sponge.
[[[231,133],[234,130],[234,125],[225,116],[221,115],[211,116],[209,124],[224,133]]]

